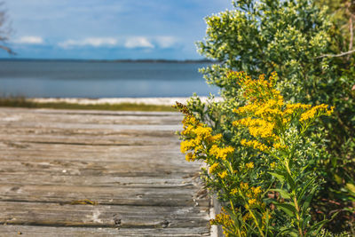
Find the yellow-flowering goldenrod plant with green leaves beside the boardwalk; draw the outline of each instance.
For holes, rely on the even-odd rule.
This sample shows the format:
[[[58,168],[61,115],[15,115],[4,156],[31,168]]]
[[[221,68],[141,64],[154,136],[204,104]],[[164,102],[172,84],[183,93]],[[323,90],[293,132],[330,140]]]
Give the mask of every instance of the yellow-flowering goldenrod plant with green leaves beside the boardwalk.
[[[177,103],[185,114],[181,152],[208,165],[201,175],[224,204],[211,224],[222,225],[226,236],[319,234],[327,220],[312,221],[309,209],[321,183],[315,170],[327,153],[307,131],[334,107],[284,101],[276,73],[269,80],[244,72],[227,77],[240,84],[245,99],[233,109],[233,138]]]

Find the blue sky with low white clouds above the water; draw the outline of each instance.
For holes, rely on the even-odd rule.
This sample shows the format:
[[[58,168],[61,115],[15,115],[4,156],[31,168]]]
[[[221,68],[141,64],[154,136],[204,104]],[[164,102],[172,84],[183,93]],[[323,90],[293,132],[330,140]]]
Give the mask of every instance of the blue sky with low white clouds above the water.
[[[201,59],[204,17],[231,0],[5,0],[17,52],[0,58]]]

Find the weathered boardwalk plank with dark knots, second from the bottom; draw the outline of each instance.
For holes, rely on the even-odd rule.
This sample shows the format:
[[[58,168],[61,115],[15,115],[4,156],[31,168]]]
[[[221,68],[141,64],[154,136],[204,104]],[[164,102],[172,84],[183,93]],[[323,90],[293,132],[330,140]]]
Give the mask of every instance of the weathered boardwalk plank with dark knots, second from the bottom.
[[[15,204],[15,205],[14,205]],[[206,225],[209,208],[59,205],[0,201],[2,225],[95,226],[120,228],[182,228]]]

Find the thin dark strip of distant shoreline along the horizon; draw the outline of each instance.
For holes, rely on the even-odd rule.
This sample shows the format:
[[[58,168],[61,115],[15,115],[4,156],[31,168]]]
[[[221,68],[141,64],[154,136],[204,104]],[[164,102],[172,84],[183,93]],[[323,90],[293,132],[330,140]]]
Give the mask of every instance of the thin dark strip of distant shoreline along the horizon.
[[[117,63],[218,63],[210,59],[0,59],[0,61],[117,62]]]

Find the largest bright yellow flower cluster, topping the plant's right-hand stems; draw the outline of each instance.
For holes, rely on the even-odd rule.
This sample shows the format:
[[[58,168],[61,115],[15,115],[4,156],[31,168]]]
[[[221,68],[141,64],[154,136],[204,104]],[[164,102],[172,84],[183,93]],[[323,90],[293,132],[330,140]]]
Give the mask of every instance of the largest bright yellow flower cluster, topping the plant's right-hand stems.
[[[233,125],[247,127],[249,134],[257,139],[250,141],[243,139],[242,146],[253,147],[260,151],[270,150],[269,146],[277,150],[286,149],[287,145],[280,144],[280,134],[290,126],[290,122],[294,119],[307,122],[320,115],[333,113],[334,107],[328,109],[324,104],[316,107],[300,103],[285,104],[280,91],[275,89],[276,73],[272,73],[269,80],[265,80],[264,75],[253,80],[244,72],[233,72],[230,75],[238,80],[243,96],[247,100],[246,106],[233,109],[234,113],[245,116],[234,121]]]

